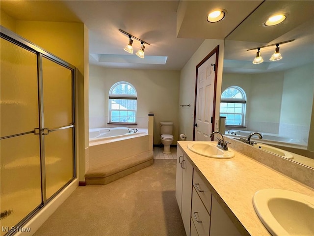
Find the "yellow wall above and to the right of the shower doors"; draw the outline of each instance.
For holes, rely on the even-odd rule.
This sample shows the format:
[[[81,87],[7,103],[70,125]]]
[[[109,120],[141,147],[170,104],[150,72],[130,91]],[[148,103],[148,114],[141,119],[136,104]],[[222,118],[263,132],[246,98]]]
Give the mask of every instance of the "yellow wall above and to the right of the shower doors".
[[[88,147],[88,116],[85,116],[88,114],[88,69],[85,71],[88,68],[88,29],[82,23],[15,21],[3,11],[0,16],[2,26],[77,67],[78,177],[79,181],[84,181],[85,148]]]

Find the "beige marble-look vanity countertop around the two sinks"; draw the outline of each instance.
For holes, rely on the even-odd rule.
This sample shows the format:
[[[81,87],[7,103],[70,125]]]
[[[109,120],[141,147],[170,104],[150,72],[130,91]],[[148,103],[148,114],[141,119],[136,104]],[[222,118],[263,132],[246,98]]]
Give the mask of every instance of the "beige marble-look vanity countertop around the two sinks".
[[[269,236],[256,214],[252,199],[258,190],[286,189],[312,196],[314,189],[287,177],[235,151],[231,159],[216,159],[198,155],[187,148],[193,141],[178,141],[194,169],[208,184],[209,190],[225,209],[242,235]],[[213,142],[217,143],[217,142]]]

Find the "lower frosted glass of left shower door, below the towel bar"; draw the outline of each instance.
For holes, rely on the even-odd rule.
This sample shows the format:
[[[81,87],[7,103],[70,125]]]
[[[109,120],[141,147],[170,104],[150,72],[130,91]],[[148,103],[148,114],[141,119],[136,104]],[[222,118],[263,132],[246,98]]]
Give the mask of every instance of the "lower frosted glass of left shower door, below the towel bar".
[[[11,229],[42,203],[39,135],[2,139],[0,146],[1,229]]]

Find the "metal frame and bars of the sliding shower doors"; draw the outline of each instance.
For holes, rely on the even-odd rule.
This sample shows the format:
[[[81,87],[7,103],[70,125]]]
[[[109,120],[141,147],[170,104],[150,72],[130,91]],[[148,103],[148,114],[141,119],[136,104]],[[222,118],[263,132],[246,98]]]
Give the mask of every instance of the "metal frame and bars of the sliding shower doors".
[[[37,81],[38,81],[38,118],[39,118],[39,128],[34,128],[33,131],[29,131],[22,134],[10,135],[6,137],[0,137],[0,139],[11,138],[15,136],[20,136],[24,134],[34,133],[35,135],[40,135],[39,139],[39,146],[40,146],[40,169],[41,169],[41,204],[33,209],[30,213],[28,213],[15,227],[23,226],[31,217],[33,217],[41,208],[46,206],[55,196],[57,196],[63,189],[65,189],[76,177],[77,177],[77,155],[76,155],[76,126],[75,126],[75,101],[76,101],[76,94],[75,94],[75,81],[76,81],[76,67],[63,59],[56,57],[55,55],[47,52],[46,50],[40,48],[39,46],[31,43],[27,39],[21,37],[20,35],[0,26],[0,38],[7,40],[15,45],[18,45],[32,53],[37,55]],[[42,59],[46,58],[49,59],[69,70],[72,72],[72,123],[68,126],[62,126],[53,130],[49,130],[48,128],[44,128],[44,117],[42,116],[44,112],[44,105],[43,105],[43,67],[42,67]],[[44,146],[44,136],[47,135],[49,132],[53,132],[56,130],[73,128],[72,138],[73,138],[73,176],[72,178],[66,182],[59,190],[57,190],[52,196],[47,199],[46,198],[46,168],[45,168],[45,146]],[[4,236],[11,236],[15,232],[8,232]]]

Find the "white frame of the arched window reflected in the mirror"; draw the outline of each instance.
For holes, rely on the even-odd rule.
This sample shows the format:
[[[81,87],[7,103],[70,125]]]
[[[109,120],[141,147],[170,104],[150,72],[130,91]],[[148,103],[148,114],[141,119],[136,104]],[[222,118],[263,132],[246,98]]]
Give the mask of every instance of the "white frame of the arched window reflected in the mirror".
[[[245,125],[245,113],[246,113],[246,102],[247,102],[247,99],[246,99],[246,93],[245,91],[238,87],[238,86],[230,86],[228,87],[227,89],[225,89],[223,92],[225,92],[226,90],[228,89],[236,89],[238,90],[241,95],[242,95],[242,98],[220,98],[220,108],[221,108],[221,104],[222,103],[232,103],[232,104],[236,104],[236,103],[240,103],[240,104],[243,104],[242,105],[242,111],[240,113],[230,113],[230,112],[221,112],[221,109],[220,109],[220,116],[224,116],[223,114],[231,114],[231,115],[241,115],[241,123],[240,124],[227,124],[228,123],[228,117],[226,118],[226,126],[228,127],[244,127]],[[223,94],[223,92],[221,93],[221,95]]]

